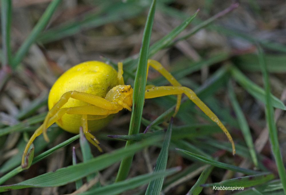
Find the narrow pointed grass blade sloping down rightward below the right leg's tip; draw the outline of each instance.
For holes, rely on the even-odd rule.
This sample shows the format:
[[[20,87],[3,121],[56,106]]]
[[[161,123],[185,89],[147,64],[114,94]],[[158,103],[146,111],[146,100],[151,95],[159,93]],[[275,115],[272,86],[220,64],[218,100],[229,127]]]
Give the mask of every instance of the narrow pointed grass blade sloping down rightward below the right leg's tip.
[[[178,150],[182,154],[187,154],[187,155],[189,155],[190,157],[192,157],[192,158],[194,158],[196,160],[199,160],[201,162],[204,162],[206,164],[210,164],[210,165],[213,165],[213,166],[216,166],[216,167],[219,167],[219,168],[223,168],[223,169],[232,170],[232,171],[235,171],[235,172],[244,173],[244,174],[247,174],[247,175],[259,174],[259,172],[257,172],[257,171],[244,169],[244,168],[240,168],[240,167],[233,166],[233,165],[230,165],[230,164],[218,162],[218,161],[213,160],[211,158],[208,158],[208,157],[205,157],[205,156],[201,156],[201,155],[198,155],[198,154],[194,154],[194,153],[188,152],[186,150],[182,150],[182,149],[179,149],[179,148],[176,148],[176,150]]]

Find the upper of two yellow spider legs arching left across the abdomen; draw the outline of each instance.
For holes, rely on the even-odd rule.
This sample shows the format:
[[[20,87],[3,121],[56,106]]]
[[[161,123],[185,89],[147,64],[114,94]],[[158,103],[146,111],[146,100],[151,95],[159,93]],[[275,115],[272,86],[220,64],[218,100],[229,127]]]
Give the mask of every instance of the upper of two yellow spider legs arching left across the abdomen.
[[[94,106],[106,109],[106,110],[117,110],[118,105],[116,103],[112,103],[104,98],[101,98],[97,95],[93,95],[90,93],[84,93],[79,91],[68,91],[64,93],[60,100],[51,108],[51,110],[48,112],[44,122],[43,122],[43,129],[44,129],[44,138],[46,141],[48,141],[48,137],[46,135],[46,129],[47,129],[47,123],[49,119],[57,113],[57,111],[67,103],[69,98],[74,98],[76,100],[81,100],[83,102],[87,102],[89,104],[92,104]]]

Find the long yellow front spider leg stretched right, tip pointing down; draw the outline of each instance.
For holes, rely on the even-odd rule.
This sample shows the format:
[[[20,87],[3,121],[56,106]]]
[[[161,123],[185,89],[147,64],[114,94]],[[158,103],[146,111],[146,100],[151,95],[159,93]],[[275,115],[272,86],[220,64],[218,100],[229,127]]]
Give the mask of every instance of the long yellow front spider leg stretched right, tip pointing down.
[[[221,130],[225,133],[229,141],[231,142],[233,148],[233,155],[235,155],[235,145],[233,139],[223,123],[219,118],[202,102],[196,93],[189,89],[188,87],[176,87],[176,86],[162,86],[162,87],[153,87],[145,91],[145,99],[148,98],[157,98],[165,95],[178,95],[184,93],[194,104],[196,104],[200,110],[202,110],[213,122],[215,122]]]

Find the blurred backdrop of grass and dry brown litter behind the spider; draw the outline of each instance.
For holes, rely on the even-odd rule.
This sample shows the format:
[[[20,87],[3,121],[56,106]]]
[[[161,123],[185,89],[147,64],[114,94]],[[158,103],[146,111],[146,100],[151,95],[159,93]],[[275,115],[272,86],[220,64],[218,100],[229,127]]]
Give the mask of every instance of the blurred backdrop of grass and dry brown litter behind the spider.
[[[126,65],[125,83],[133,86],[136,62],[132,59],[138,57],[146,16],[151,4],[149,0],[63,0],[43,31],[32,38],[34,40],[31,41],[31,46],[26,48],[27,53],[25,49],[21,53],[19,52],[21,49],[18,49],[29,39],[34,26],[51,1],[14,0],[12,2],[11,35],[8,38],[13,57],[11,59],[8,57],[6,64],[3,64],[2,60],[0,72],[0,176],[19,165],[19,157],[25,146],[25,137],[29,137],[30,132],[41,124],[47,111],[49,89],[64,71],[88,60],[105,61],[111,64],[123,61]],[[286,153],[283,148],[286,147],[286,116],[279,108],[285,110],[285,103],[282,104],[282,102],[286,100],[286,3],[282,0],[241,0],[236,9],[233,9],[234,7],[233,10],[229,9],[233,3],[235,2],[219,0],[157,2],[151,45],[200,9],[194,21],[179,35],[183,39],[156,52],[152,59],[160,61],[183,86],[198,92],[198,96],[226,124],[237,144],[238,153],[237,156],[232,156],[230,144],[216,127],[193,128],[193,131],[198,131],[197,137],[182,136],[188,142],[179,143],[182,141],[179,139],[170,145],[167,168],[181,166],[184,171],[179,173],[181,175],[177,174],[165,180],[164,194],[186,194],[198,181],[202,170],[207,168],[205,164],[176,152],[174,148],[178,146],[241,168],[272,172],[275,176],[269,177],[262,188],[266,189],[270,182],[274,182],[276,187],[278,186],[275,188],[275,193],[283,194],[279,180],[272,180],[278,178],[277,167],[268,141],[264,101],[261,101],[261,96],[257,97],[258,92],[255,93],[255,90],[258,89],[255,87],[263,88],[256,47],[258,43],[264,49],[264,54],[261,55],[270,73],[271,92],[281,99],[280,102],[278,99],[275,102],[275,107],[278,108],[275,110],[275,119],[280,148],[282,148],[281,154],[285,162]],[[1,6],[3,7],[3,1]],[[225,9],[229,9],[229,13],[223,13]],[[203,24],[202,21],[214,15],[217,18],[210,25],[184,38],[185,35],[195,32],[196,27]],[[3,19],[3,15],[1,17]],[[3,31],[1,37],[3,37]],[[177,38],[174,40],[178,40]],[[2,48],[3,44],[2,39]],[[5,52],[1,50],[1,59]],[[158,72],[152,69],[149,71],[148,81],[158,86],[168,84]],[[175,101],[175,97],[146,100],[142,123],[148,125],[172,107]],[[111,152],[125,145],[125,142],[109,139],[106,136],[128,134],[130,116],[130,112],[122,111],[106,128],[95,133],[105,152]],[[168,119],[154,129],[167,128],[167,121]],[[176,127],[194,124],[211,123],[190,101],[186,101],[174,119],[174,130]],[[35,143],[35,154],[41,153],[43,149],[57,146],[74,136],[56,125],[51,129],[52,131],[49,132],[51,142],[45,143],[39,138]],[[241,129],[246,131],[243,132]],[[214,130],[214,133],[208,130]],[[144,126],[141,129],[141,132],[143,131]],[[179,131],[178,134],[180,134]],[[253,149],[247,148],[251,146],[251,142],[254,143],[255,154],[251,152],[254,151]],[[81,162],[83,156],[77,140],[34,164],[29,170],[10,178],[4,184],[15,184],[71,165],[72,147],[75,147],[76,156]],[[96,148],[91,147],[91,149],[94,156],[99,155]],[[156,146],[137,152],[129,178],[151,172],[159,152],[160,148]],[[100,175],[100,182],[112,183],[118,167],[119,162],[104,169]],[[237,178],[243,174],[215,167],[210,170],[208,176],[206,183],[215,183]],[[144,193],[146,188],[146,185],[142,185],[124,193],[140,194]],[[262,188],[258,187],[257,190],[262,192]],[[76,190],[75,184],[70,183],[53,188],[26,188],[7,192],[7,194],[67,194],[74,190]],[[202,190],[202,194],[214,193],[232,194],[233,192],[215,192],[212,187]]]

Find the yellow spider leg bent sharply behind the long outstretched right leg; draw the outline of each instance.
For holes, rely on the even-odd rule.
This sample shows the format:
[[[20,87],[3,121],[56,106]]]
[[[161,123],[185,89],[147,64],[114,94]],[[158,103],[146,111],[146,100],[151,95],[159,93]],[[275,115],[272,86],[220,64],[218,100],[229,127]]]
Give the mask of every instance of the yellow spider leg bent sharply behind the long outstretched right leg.
[[[176,87],[180,87],[182,86],[175,77],[173,77],[171,75],[171,73],[169,73],[160,62],[156,61],[156,60],[152,60],[152,59],[148,59],[148,63],[147,63],[147,75],[148,75],[148,70],[149,70],[149,66],[151,66],[152,68],[154,68],[156,71],[158,71],[159,73],[162,74],[163,77],[165,77],[173,86]],[[148,86],[148,85],[147,85]],[[150,87],[150,86],[148,86]],[[147,88],[148,89],[148,88]],[[176,108],[175,108],[175,112],[173,114],[173,117],[176,116],[176,114],[179,111],[180,108],[180,104],[181,104],[181,99],[182,99],[182,94],[177,94],[177,104],[176,104]]]

